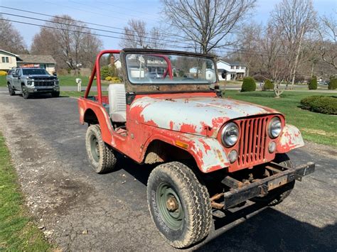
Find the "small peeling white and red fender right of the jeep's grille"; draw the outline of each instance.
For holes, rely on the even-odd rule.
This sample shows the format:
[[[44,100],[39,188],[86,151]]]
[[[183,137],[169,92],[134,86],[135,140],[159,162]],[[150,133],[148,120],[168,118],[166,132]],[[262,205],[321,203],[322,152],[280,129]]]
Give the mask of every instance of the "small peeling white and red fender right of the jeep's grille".
[[[302,146],[304,146],[304,141],[299,129],[291,124],[284,126],[281,136],[279,137],[276,152],[287,153],[289,150],[294,150]]]

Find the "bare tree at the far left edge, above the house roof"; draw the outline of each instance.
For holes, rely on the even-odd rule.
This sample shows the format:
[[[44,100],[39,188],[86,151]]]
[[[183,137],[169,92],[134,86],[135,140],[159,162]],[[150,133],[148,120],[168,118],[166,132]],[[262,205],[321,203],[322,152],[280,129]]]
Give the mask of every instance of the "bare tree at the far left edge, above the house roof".
[[[22,36],[10,21],[0,15],[0,48],[11,53],[28,53]]]

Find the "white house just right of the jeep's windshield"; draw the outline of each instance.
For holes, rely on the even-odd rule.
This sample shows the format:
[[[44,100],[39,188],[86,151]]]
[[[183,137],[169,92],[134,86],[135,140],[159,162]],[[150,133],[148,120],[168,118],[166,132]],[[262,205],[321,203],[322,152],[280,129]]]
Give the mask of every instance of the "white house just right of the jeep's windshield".
[[[246,65],[242,62],[218,60],[216,66],[219,80],[242,80],[246,76]]]

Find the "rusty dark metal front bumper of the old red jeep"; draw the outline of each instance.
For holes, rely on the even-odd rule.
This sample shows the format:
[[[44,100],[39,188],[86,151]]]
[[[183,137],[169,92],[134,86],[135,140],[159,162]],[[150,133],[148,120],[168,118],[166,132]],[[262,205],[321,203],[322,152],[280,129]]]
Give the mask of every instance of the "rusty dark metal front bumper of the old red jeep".
[[[270,190],[287,186],[291,181],[301,181],[302,177],[314,172],[315,163],[309,162],[298,165],[296,168],[287,168],[277,163],[268,163],[266,169],[272,171],[274,175],[261,180],[255,180],[255,182],[249,184],[245,184],[229,176],[225,177],[222,183],[231,189],[228,192],[213,196],[211,198],[212,207],[228,209],[253,197],[265,196]],[[223,204],[215,202],[215,200],[220,199],[220,197],[224,199]]]

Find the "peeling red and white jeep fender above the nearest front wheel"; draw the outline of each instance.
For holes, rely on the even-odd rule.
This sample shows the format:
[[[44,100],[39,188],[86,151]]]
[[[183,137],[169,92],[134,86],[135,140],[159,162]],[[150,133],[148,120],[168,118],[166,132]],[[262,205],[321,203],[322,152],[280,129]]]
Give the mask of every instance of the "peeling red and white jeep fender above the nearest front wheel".
[[[176,146],[190,153],[201,172],[213,172],[227,168],[230,162],[225,153],[225,148],[216,138],[196,136],[188,133],[168,131],[161,129],[146,142],[146,148],[152,141],[159,140]],[[144,160],[146,148],[142,159]]]

